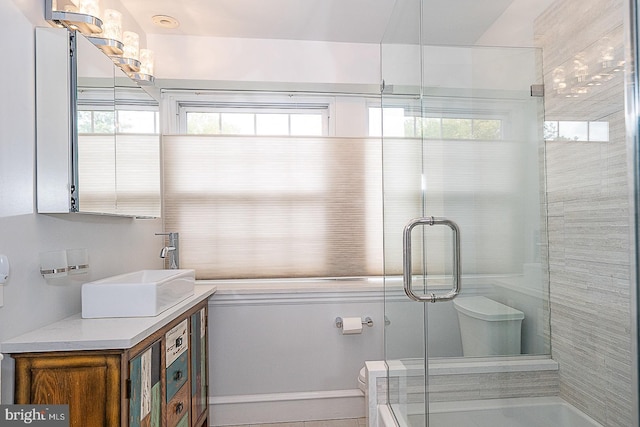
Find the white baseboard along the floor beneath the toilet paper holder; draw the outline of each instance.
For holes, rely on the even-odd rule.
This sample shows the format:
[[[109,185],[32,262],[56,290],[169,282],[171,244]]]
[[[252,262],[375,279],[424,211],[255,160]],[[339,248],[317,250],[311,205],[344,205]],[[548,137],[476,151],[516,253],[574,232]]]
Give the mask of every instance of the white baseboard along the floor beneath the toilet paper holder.
[[[210,426],[363,417],[359,389],[209,397]]]

